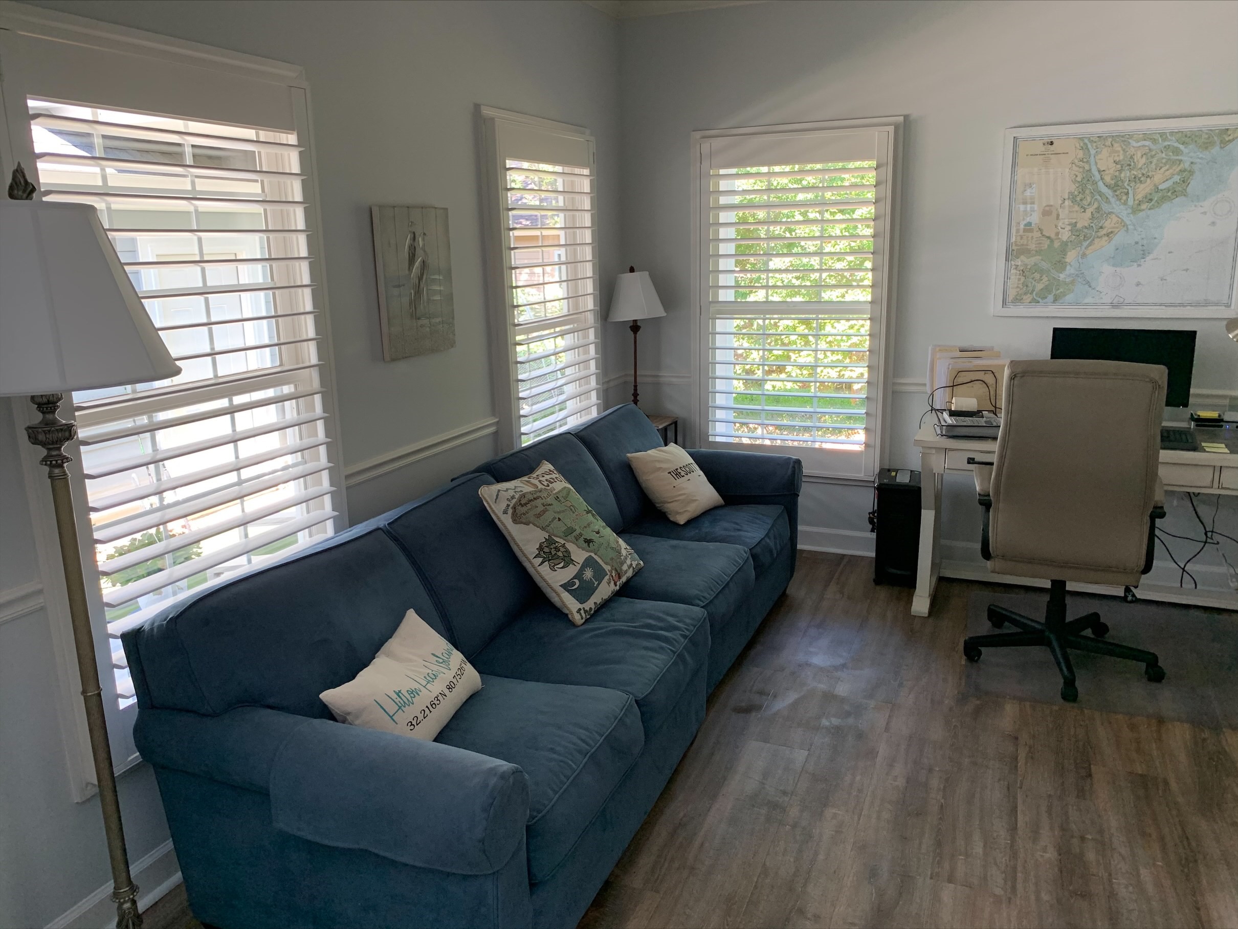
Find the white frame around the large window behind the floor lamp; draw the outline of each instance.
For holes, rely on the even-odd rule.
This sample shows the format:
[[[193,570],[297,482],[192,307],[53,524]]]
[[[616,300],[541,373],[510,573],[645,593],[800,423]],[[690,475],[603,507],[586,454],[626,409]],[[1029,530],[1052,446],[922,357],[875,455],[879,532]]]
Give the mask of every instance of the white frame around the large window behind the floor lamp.
[[[5,41],[21,41],[28,36],[35,40],[51,40],[66,43],[66,47],[78,47],[89,55],[98,52],[120,52],[152,62],[173,66],[191,66],[202,72],[202,82],[196,93],[206,99],[213,92],[212,79],[219,88],[219,99],[227,99],[228,89],[235,89],[236,78],[245,82],[261,81],[276,89],[285,88],[290,95],[292,119],[301,150],[301,172],[305,175],[302,190],[308,201],[305,209],[306,227],[310,229],[310,256],[314,266],[314,308],[318,311],[316,331],[319,336],[318,358],[321,362],[319,383],[322,386],[321,404],[326,414],[324,430],[331,448],[329,482],[337,491],[332,495],[332,507],[339,514],[337,531],[348,525],[347,499],[344,494],[343,452],[339,442],[338,399],[335,395],[334,355],[331,338],[331,313],[327,291],[327,273],[322,255],[322,214],[318,191],[317,159],[313,151],[313,126],[310,116],[310,88],[305,71],[300,66],[259,58],[227,50],[214,48],[170,38],[152,32],[134,30],[109,24],[97,22],[82,16],[61,14],[20,4],[0,2],[0,30],[6,30]],[[83,87],[88,76],[83,74]],[[27,94],[28,92],[28,94]],[[0,172],[5,178],[20,161],[28,176],[37,183],[37,170],[33,147],[30,137],[30,118],[26,108],[27,95],[37,95],[38,88],[27,88],[20,73],[5,67],[0,59]],[[92,100],[104,105],[106,102]],[[196,103],[196,102],[194,102]],[[124,107],[119,107],[124,109]],[[187,104],[187,110],[193,109]],[[173,114],[180,115],[180,114]],[[191,116],[192,118],[192,116]],[[6,181],[7,183],[7,181]],[[28,446],[24,427],[32,421],[33,408],[26,398],[11,400],[15,434],[14,441],[19,448]],[[61,415],[69,419],[73,415],[72,400],[66,396]],[[102,669],[104,707],[111,738],[113,767],[116,773],[128,770],[141,762],[134,746],[132,725],[136,718],[136,705],[120,709],[115,692],[115,680],[111,674],[111,652],[106,623],[103,616],[103,601],[95,575],[90,570],[94,564],[94,540],[90,531],[89,513],[85,507],[85,479],[82,473],[80,451],[74,442],[69,447],[74,461],[69,464],[71,483],[76,502],[78,536],[83,567],[88,575],[88,596],[92,601],[92,626],[94,628],[95,654]],[[52,517],[51,493],[43,468],[37,463],[37,456],[22,453],[25,491],[30,503],[38,554],[40,574],[43,587],[43,601],[52,630],[53,649],[57,666],[57,715],[64,733],[66,762],[69,769],[69,787],[74,800],[82,801],[95,792],[89,735],[85,726],[85,713],[80,700],[77,659],[73,649],[72,626],[69,622],[68,601],[64,595],[63,569],[61,566],[58,536]]]

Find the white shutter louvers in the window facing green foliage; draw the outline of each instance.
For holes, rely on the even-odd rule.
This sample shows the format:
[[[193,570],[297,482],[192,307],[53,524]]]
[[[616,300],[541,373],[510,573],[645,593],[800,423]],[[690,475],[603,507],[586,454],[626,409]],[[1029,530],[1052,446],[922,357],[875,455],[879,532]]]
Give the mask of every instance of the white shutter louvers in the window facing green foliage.
[[[877,161],[708,171],[708,434],[862,450]]]

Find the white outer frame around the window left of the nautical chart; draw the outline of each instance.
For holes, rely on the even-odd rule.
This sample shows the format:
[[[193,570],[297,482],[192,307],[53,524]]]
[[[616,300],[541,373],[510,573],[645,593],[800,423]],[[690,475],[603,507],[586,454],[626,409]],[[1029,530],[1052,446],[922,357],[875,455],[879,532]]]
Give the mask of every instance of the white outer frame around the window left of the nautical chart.
[[[805,474],[808,477],[829,478],[842,482],[870,483],[883,463],[883,455],[889,432],[890,404],[890,359],[894,349],[894,307],[896,295],[899,213],[903,170],[903,116],[884,116],[874,119],[847,119],[821,123],[786,123],[768,126],[745,126],[740,129],[714,129],[692,133],[692,260],[691,274],[692,305],[697,307],[695,325],[695,351],[692,353],[692,384],[697,398],[696,417],[691,424],[691,435],[702,448],[721,448],[729,451],[764,452],[768,455],[791,455],[803,461]],[[816,455],[817,450],[794,445],[737,443],[709,441],[709,237],[703,233],[707,222],[706,207],[709,203],[709,167],[707,146],[718,139],[740,136],[770,136],[782,139],[791,136],[811,136],[853,131],[857,129],[885,133],[883,157],[885,160],[884,186],[878,178],[878,196],[885,197],[885,222],[880,232],[881,245],[874,243],[873,308],[869,331],[869,374],[868,404],[865,410],[865,450],[860,452],[859,467],[839,468],[837,458],[831,455]],[[755,139],[754,139],[755,141]],[[781,162],[775,162],[781,164]],[[836,452],[834,455],[852,455]]]

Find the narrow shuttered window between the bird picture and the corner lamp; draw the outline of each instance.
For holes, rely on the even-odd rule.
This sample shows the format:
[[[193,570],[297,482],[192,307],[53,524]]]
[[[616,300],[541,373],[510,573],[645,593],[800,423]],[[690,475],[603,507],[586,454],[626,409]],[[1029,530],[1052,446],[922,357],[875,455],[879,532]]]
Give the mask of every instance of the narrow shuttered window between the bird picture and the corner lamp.
[[[515,448],[597,415],[593,140],[583,129],[483,108],[493,161],[491,276],[500,434]]]

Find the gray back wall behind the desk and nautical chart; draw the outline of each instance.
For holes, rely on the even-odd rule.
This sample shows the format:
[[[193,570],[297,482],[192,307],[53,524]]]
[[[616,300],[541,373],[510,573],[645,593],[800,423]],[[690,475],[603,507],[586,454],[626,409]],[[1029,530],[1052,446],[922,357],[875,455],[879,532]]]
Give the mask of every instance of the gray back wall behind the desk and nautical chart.
[[[990,313],[1004,130],[1238,110],[1238,4],[1228,1],[756,4],[629,20],[620,47],[623,260],[651,271],[669,312],[643,333],[641,368],[664,375],[643,391],[651,410],[696,408],[676,377],[691,370],[693,346],[690,133],[907,118],[883,456],[895,467],[919,467],[911,437],[926,398],[898,379],[922,385],[930,344],[1049,353],[1051,321]],[[1139,325],[1197,328],[1195,384],[1238,386],[1238,346],[1218,321]],[[978,557],[964,483],[950,481],[945,538],[961,545],[947,557]],[[868,488],[807,484],[801,541],[864,550],[870,499]]]

